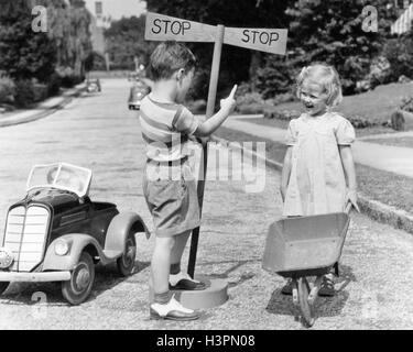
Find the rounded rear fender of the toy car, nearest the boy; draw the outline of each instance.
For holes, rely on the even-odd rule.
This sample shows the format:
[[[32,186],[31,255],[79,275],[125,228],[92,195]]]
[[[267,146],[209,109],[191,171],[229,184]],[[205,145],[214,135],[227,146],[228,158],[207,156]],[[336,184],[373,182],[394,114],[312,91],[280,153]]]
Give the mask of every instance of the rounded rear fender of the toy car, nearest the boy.
[[[106,234],[105,251],[123,252],[130,231],[144,232],[146,239],[151,237],[143,220],[135,212],[121,212],[115,216]]]

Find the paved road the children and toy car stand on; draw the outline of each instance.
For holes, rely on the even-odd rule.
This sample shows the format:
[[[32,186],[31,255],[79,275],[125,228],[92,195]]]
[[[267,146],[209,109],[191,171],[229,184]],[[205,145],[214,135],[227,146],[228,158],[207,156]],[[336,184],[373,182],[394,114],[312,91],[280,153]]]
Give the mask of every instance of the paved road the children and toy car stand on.
[[[127,110],[128,85],[106,80],[102,95],[78,98],[46,119],[0,129],[0,231],[8,206],[24,195],[31,166],[55,161],[91,168],[93,199],[138,211],[152,228],[141,190],[140,129],[135,112]],[[66,305],[56,284],[13,284],[0,298],[0,329],[301,329],[291,298],[280,295],[283,279],[261,268],[267,229],[281,213],[280,175],[267,169],[263,190],[248,193],[252,174],[248,183],[207,183],[197,273],[227,279],[230,299],[199,321],[149,320],[153,239],[139,238],[135,273],[120,279],[113,267],[99,268],[90,299],[79,307]],[[319,299],[314,329],[412,329],[412,235],[360,215],[352,219],[339,293]],[[47,304],[32,300],[39,292]]]

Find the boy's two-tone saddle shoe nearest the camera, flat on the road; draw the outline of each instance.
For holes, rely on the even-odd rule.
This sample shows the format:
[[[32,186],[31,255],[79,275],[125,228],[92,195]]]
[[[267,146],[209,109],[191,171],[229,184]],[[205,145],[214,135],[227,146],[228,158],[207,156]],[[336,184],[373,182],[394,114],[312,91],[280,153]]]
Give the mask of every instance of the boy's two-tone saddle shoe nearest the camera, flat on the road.
[[[156,320],[177,320],[187,321],[199,318],[199,314],[195,310],[185,308],[173,296],[165,305],[152,304],[150,307],[150,318]]]

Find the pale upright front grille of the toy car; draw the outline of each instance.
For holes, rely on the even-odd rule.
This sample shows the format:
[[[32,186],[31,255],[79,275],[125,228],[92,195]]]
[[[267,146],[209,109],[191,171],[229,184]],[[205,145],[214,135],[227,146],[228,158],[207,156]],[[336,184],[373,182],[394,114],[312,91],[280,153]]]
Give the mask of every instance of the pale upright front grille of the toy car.
[[[11,271],[30,272],[42,261],[48,217],[48,210],[40,206],[9,211],[4,246],[13,252]]]

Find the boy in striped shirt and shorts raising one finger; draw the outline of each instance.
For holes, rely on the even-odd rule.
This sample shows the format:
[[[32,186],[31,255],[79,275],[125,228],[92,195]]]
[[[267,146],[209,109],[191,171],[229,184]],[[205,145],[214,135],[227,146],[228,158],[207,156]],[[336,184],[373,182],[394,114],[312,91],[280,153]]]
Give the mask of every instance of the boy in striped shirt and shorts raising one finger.
[[[181,271],[181,257],[191,231],[199,226],[196,184],[188,165],[188,136],[205,138],[232,112],[237,86],[221,100],[221,109],[205,122],[197,121],[182,102],[194,77],[196,59],[183,44],[161,43],[151,55],[152,92],[141,103],[140,122],[146,143],[143,194],[155,227],[151,263],[153,319],[193,320],[198,312],[183,307],[173,289],[205,289]]]

